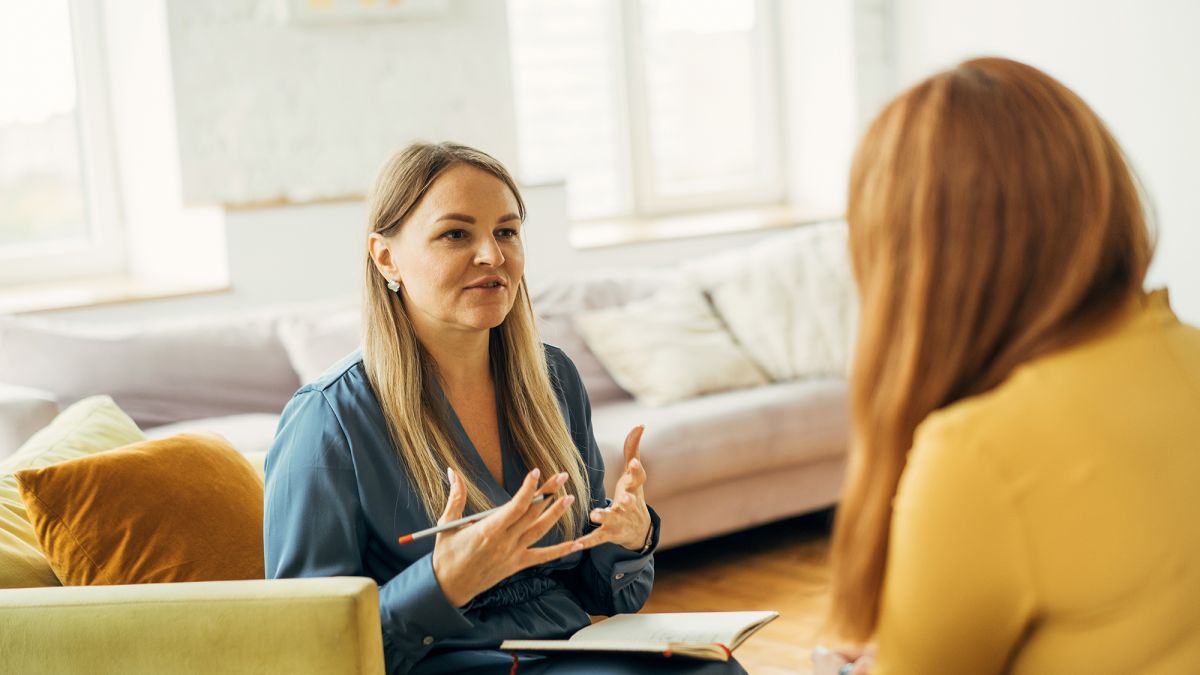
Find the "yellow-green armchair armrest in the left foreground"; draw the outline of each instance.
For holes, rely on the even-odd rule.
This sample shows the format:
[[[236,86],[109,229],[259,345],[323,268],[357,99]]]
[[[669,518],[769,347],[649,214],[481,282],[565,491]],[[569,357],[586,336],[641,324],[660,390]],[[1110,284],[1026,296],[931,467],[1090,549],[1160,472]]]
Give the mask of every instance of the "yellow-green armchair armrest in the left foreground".
[[[8,673],[384,671],[361,577],[0,591]]]

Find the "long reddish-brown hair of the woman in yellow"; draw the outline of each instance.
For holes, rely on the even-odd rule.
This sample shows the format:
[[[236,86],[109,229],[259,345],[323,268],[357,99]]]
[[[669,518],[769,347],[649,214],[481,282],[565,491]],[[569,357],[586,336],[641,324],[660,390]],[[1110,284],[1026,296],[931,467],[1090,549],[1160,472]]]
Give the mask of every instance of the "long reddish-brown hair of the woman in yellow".
[[[917,425],[1108,321],[1141,291],[1152,244],[1104,124],[1007,59],[888,104],[856,154],[846,217],[862,317],[830,620],[866,640]]]

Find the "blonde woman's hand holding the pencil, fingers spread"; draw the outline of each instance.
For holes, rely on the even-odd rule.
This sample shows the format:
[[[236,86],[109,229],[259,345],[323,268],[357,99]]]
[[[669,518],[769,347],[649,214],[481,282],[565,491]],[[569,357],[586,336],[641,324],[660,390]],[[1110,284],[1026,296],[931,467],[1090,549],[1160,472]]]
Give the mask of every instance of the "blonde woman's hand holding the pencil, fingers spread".
[[[467,489],[462,480],[452,470],[446,470],[446,473],[450,496],[438,525],[462,518],[467,504]],[[566,483],[566,473],[538,485],[540,477],[541,472],[536,468],[530,471],[512,500],[492,515],[438,533],[433,544],[433,575],[451,604],[463,607],[479,593],[527,567],[583,549],[576,540],[530,548],[575,503],[574,495],[533,503],[536,495],[557,492]]]

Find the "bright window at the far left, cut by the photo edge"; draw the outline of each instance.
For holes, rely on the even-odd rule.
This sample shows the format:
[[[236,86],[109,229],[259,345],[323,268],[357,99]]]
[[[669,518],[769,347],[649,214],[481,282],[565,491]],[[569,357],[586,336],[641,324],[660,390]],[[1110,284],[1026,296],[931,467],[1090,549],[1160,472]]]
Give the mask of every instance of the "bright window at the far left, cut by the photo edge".
[[[90,1],[0,4],[0,285],[124,264]]]

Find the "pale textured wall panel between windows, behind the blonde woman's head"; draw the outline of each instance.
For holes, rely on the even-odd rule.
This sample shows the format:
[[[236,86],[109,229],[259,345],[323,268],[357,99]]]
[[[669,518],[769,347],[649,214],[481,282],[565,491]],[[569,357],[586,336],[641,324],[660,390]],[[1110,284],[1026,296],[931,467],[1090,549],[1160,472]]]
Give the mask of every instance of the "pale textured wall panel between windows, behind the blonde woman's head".
[[[503,1],[320,24],[283,20],[277,0],[166,1],[191,204],[361,195],[416,139],[516,159]]]

